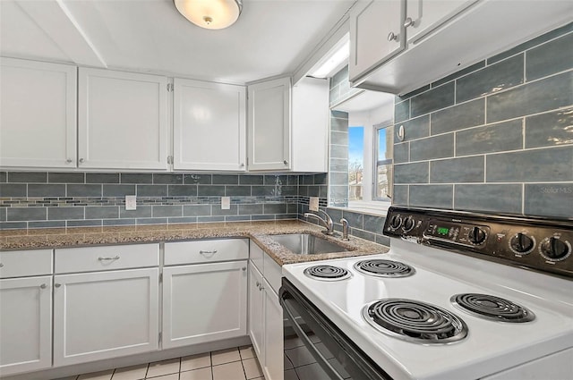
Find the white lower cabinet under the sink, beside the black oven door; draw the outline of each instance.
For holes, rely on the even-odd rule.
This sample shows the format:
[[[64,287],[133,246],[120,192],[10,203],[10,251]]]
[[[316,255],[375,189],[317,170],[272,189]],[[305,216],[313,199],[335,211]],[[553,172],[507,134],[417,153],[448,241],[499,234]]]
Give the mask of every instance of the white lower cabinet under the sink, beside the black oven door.
[[[251,257],[256,258],[261,254],[264,255],[262,267],[256,266],[253,261],[249,263],[249,336],[265,378],[282,380],[283,310],[278,302],[279,283],[276,278],[280,266],[256,244],[251,243]],[[267,274],[270,274],[269,278],[265,277]]]

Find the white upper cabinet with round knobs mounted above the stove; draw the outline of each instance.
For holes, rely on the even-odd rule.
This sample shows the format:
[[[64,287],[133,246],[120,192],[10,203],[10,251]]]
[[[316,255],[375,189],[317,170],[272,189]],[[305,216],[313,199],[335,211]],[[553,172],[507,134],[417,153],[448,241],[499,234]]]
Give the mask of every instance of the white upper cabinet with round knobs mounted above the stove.
[[[350,14],[350,82],[406,94],[571,21],[573,2],[522,3],[360,1]]]

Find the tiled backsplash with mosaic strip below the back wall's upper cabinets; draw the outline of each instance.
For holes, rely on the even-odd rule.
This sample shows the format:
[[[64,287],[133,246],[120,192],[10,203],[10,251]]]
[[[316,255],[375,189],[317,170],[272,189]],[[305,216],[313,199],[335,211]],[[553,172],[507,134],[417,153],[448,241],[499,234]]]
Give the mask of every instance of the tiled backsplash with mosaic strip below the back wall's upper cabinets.
[[[299,192],[326,198],[326,174],[0,172],[0,228],[295,219]],[[137,195],[135,211],[125,195]]]

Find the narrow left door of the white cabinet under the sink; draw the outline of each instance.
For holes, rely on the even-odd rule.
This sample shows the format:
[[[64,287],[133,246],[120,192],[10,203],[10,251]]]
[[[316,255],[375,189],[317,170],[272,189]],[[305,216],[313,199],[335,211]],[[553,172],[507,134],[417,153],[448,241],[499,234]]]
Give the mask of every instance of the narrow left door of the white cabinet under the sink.
[[[262,350],[264,335],[264,300],[262,274],[249,262],[249,336],[251,336],[252,348],[264,363],[264,350]]]

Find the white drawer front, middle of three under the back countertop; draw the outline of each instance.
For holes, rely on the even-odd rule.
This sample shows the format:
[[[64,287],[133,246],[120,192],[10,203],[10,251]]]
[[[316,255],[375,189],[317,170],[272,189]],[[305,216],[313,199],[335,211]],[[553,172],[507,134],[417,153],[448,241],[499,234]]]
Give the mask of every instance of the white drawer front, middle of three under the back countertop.
[[[158,244],[56,249],[56,273],[58,274],[158,265]]]

